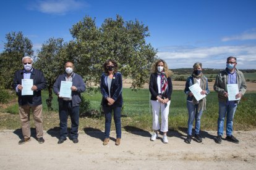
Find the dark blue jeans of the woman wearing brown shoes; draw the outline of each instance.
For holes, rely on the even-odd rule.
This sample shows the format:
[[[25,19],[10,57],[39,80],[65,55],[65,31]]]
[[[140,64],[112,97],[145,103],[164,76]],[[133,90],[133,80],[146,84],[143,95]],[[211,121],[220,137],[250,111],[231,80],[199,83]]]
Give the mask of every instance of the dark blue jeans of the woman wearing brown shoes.
[[[114,124],[116,126],[116,138],[121,138],[121,109],[122,107],[103,107],[105,115],[105,138],[109,138],[111,129],[112,110],[114,111]]]

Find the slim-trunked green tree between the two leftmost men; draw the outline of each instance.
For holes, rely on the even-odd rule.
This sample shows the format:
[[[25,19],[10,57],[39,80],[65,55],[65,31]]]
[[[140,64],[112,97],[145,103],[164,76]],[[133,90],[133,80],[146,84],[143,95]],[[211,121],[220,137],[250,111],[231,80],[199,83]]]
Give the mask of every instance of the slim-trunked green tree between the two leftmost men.
[[[53,110],[51,101],[53,100],[53,84],[55,79],[64,73],[64,64],[68,59],[64,49],[66,43],[62,38],[49,38],[42,44],[38,51],[35,67],[43,71],[48,84],[49,97],[46,99],[48,110]]]

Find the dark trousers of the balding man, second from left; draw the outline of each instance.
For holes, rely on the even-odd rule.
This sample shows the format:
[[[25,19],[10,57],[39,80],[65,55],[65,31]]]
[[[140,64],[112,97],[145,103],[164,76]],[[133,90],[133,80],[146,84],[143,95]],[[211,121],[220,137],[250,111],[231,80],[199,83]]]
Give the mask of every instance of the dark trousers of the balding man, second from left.
[[[67,118],[71,119],[71,137],[75,139],[78,137],[79,127],[79,106],[72,107],[72,101],[59,102],[59,127],[60,138],[67,138]]]

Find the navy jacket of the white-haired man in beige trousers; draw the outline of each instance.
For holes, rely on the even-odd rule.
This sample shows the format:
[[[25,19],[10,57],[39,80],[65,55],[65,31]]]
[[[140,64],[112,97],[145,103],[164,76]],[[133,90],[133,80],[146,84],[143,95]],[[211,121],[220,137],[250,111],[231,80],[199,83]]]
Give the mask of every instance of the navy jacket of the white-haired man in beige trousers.
[[[12,87],[16,91],[16,87],[18,84],[22,84],[23,79],[23,70],[18,70],[14,74],[14,82],[12,84]],[[22,105],[30,105],[30,106],[36,106],[42,104],[41,99],[41,90],[45,89],[46,87],[46,79],[45,76],[43,76],[43,72],[40,70],[37,70],[33,68],[32,73],[30,75],[30,79],[33,79],[33,85],[37,87],[37,91],[33,91],[33,95],[22,95],[22,92],[17,92],[17,95],[19,96],[18,102],[19,106]]]

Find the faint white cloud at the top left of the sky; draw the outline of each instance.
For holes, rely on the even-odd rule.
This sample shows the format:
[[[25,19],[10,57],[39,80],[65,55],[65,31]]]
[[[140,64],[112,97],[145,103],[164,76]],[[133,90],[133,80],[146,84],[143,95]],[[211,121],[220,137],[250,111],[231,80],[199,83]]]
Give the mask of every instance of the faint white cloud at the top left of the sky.
[[[65,15],[67,12],[79,10],[88,5],[77,0],[47,0],[30,4],[30,10],[38,10],[46,14]]]

